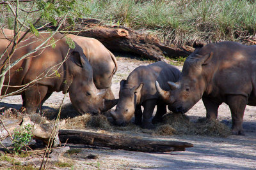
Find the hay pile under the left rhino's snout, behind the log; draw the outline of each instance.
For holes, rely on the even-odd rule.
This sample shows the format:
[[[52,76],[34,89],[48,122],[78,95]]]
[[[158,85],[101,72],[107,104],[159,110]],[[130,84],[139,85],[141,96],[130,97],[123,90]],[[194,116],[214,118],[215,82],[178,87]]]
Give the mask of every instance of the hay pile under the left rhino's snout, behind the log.
[[[104,115],[91,115],[87,113],[78,117],[66,119],[65,128],[79,129],[84,127],[92,127],[104,130],[112,129],[108,119]]]

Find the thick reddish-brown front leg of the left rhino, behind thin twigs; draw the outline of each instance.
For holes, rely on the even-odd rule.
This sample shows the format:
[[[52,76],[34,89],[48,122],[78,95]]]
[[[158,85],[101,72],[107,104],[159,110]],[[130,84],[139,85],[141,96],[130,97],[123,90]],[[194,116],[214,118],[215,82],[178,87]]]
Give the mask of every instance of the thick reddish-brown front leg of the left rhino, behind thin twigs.
[[[28,113],[38,110],[38,106],[47,94],[48,87],[44,85],[34,85],[27,89],[25,94],[25,108]]]

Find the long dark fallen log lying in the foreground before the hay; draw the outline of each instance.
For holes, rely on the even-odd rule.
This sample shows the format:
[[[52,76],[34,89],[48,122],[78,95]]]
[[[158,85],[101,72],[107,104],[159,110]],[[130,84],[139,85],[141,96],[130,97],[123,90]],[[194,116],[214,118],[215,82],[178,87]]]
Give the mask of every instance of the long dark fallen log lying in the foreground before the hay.
[[[186,142],[115,136],[71,129],[60,129],[59,138],[61,142],[67,141],[67,143],[104,146],[139,152],[184,151],[185,148],[193,147],[193,144]]]

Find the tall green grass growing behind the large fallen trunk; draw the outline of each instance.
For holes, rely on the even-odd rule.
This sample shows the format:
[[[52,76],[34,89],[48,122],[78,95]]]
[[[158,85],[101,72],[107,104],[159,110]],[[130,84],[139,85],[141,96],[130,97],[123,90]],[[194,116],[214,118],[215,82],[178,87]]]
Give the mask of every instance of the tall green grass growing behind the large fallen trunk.
[[[214,42],[244,38],[256,33],[256,2],[247,0],[105,0],[83,3],[84,17],[110,25],[147,29],[165,42],[179,45],[196,40]]]

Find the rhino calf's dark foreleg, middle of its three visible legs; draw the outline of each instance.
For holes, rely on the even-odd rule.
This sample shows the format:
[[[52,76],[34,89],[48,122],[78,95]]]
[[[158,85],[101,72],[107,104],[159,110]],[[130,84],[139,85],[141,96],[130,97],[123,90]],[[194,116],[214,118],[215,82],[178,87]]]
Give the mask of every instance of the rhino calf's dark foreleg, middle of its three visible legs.
[[[152,117],[154,108],[156,106],[156,100],[148,100],[143,104],[143,121],[142,128],[143,129],[154,129],[154,125],[150,122],[150,118]]]

